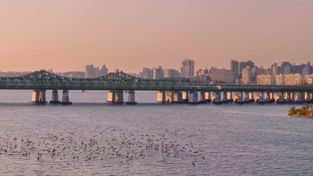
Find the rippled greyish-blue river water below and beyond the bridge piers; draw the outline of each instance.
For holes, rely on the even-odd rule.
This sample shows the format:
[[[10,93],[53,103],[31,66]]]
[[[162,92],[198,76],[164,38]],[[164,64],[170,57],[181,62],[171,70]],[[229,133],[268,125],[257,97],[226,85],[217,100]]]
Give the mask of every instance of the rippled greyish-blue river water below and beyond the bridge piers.
[[[106,103],[106,91],[70,91],[69,106],[30,99],[0,90],[1,176],[313,174],[313,119],[288,116],[291,105],[159,104],[144,91],[137,105]]]

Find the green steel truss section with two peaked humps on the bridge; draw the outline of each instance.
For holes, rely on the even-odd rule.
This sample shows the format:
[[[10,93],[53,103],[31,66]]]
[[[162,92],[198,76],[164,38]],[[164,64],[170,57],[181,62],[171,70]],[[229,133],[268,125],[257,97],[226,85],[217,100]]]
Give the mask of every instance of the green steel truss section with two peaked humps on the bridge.
[[[67,78],[41,70],[20,77],[0,77],[0,89],[192,90],[192,86],[186,80],[142,79],[124,72],[98,78]]]

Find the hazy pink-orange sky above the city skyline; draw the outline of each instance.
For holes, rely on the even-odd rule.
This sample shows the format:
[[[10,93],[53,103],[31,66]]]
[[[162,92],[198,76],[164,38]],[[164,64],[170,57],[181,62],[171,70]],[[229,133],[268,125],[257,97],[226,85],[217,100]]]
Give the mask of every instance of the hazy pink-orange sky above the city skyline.
[[[0,70],[313,62],[313,0],[0,0]]]

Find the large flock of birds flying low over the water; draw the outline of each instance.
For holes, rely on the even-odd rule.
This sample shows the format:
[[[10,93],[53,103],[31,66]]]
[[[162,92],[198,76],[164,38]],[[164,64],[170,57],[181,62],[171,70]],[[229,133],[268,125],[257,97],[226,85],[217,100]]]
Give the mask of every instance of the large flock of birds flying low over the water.
[[[110,127],[93,136],[76,131],[63,134],[46,133],[44,136],[2,133],[0,158],[1,155],[12,158],[24,157],[41,162],[64,162],[67,165],[100,160],[114,160],[120,163],[152,158],[171,160],[188,156],[204,159],[204,149],[201,148],[201,144],[194,144],[190,140],[191,135],[185,139],[179,137],[173,139],[173,136],[185,132],[184,129],[173,132],[163,130],[156,134],[142,132],[143,128],[138,129],[135,132],[127,132]],[[183,140],[183,144],[177,139]],[[194,162],[192,164],[196,166]]]

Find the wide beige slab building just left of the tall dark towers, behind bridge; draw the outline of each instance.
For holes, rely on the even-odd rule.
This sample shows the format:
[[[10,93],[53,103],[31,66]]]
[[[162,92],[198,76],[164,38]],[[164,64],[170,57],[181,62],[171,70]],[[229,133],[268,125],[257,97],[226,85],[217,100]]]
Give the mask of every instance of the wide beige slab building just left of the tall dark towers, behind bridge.
[[[235,82],[234,72],[231,70],[226,70],[225,68],[217,69],[216,67],[212,67],[210,69],[210,78],[213,84],[233,84]]]

